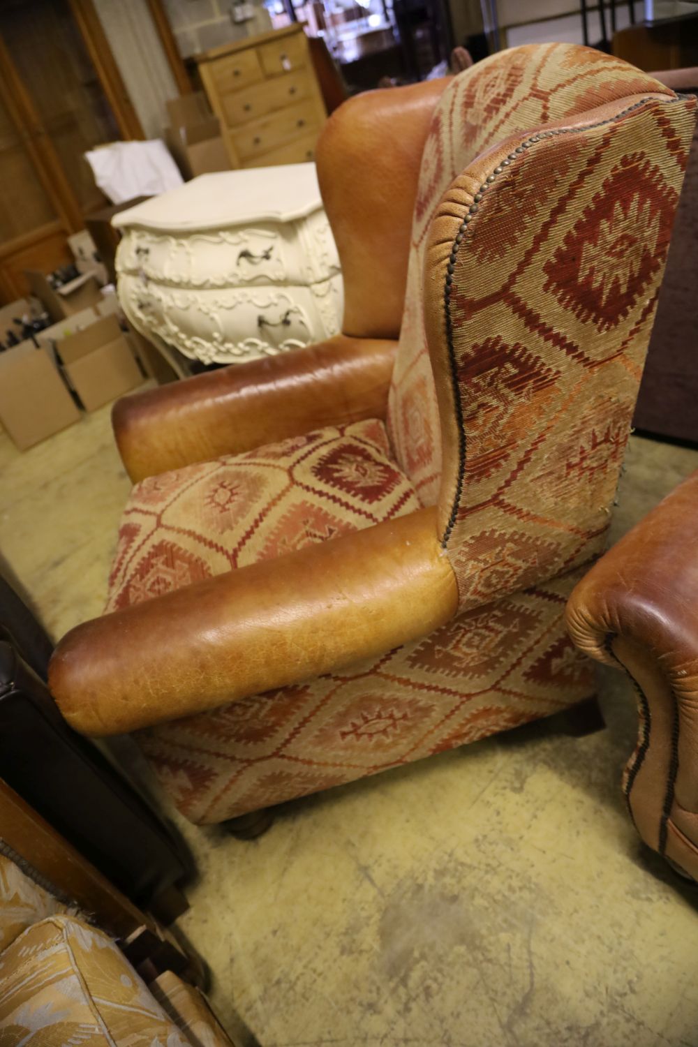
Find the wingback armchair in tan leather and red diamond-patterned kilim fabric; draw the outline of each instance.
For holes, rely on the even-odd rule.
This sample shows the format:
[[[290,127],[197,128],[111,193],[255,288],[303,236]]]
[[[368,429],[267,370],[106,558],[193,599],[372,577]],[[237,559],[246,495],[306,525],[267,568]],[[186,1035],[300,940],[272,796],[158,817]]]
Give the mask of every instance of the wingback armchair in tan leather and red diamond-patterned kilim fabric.
[[[135,487],[108,612],[53,655],[68,721],[135,732],[208,823],[591,695],[563,614],[695,105],[548,44],[341,106],[318,170],[343,334],[117,405]]]

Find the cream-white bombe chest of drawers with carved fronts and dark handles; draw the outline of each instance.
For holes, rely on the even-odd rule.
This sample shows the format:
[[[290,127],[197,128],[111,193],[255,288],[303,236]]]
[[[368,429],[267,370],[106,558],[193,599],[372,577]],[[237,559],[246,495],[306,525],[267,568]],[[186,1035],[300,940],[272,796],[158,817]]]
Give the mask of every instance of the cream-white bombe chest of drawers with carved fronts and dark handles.
[[[114,224],[127,316],[190,358],[241,362],[340,330],[339,258],[312,163],[203,175]]]

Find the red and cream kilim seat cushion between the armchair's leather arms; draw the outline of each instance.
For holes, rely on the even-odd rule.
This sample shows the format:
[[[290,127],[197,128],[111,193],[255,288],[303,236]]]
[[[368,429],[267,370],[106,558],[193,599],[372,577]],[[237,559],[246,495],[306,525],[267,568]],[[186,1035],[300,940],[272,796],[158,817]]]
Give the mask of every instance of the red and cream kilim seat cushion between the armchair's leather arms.
[[[418,508],[375,420],[149,476],[121,519],[106,610]]]

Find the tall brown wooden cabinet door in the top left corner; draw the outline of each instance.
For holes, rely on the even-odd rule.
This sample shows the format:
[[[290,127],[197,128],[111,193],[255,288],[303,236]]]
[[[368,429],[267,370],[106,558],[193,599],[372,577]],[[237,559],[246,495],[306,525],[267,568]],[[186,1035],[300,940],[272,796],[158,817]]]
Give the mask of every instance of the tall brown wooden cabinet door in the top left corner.
[[[67,237],[107,203],[83,154],[137,135],[114,70],[91,0],[0,3],[0,302],[27,293],[24,269],[69,262]]]

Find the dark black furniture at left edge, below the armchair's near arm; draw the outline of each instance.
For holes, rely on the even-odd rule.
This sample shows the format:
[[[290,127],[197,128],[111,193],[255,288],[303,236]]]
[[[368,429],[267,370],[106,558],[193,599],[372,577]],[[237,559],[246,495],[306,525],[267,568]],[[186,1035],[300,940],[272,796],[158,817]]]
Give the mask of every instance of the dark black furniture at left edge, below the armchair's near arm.
[[[133,903],[171,922],[193,872],[181,839],[65,723],[44,683],[52,645],[0,576],[0,778]]]

